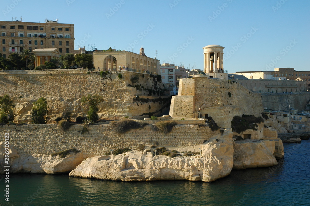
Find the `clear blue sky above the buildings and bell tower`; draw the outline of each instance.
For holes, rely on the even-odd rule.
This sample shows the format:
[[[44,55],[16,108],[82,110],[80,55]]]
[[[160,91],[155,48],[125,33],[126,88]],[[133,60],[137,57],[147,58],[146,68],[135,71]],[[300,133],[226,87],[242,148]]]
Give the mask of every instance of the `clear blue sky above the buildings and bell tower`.
[[[139,54],[143,45],[161,64],[203,69],[202,47],[218,44],[229,73],[310,71],[308,0],[2,0],[1,8],[3,21],[74,24],[76,49]]]

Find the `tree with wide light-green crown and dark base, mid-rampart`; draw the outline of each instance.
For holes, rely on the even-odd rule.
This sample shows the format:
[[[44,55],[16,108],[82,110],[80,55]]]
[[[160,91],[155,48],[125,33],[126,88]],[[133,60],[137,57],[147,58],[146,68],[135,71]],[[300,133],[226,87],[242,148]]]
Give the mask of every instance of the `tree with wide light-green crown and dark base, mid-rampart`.
[[[91,122],[98,121],[98,114],[99,111],[98,104],[103,101],[103,97],[99,96],[98,94],[88,94],[87,96],[82,97],[81,103],[87,104],[89,110],[87,112],[87,119]]]

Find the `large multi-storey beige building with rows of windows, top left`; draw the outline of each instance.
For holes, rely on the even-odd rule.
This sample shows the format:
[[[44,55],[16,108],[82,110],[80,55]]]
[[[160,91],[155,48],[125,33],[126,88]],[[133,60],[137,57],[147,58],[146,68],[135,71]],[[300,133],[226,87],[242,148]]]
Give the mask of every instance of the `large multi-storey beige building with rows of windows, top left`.
[[[74,53],[74,24],[0,21],[0,52],[7,58],[23,50],[57,49],[60,55]]]

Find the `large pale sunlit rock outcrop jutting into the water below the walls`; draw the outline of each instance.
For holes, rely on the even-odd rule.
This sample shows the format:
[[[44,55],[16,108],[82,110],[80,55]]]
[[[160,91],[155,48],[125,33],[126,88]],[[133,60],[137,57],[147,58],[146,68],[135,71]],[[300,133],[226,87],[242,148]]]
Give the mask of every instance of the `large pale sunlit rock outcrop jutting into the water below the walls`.
[[[146,151],[87,158],[70,176],[118,181],[192,180],[212,182],[230,174],[233,165],[231,134],[212,138],[202,145],[202,155],[157,155]]]

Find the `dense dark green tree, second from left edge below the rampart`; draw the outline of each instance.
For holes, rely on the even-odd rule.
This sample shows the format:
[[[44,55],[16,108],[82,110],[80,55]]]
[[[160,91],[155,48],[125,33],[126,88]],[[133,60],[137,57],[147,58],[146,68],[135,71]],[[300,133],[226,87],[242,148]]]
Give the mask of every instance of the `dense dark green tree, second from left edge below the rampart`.
[[[33,103],[32,124],[45,124],[47,113],[47,100],[41,97]]]

